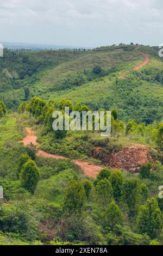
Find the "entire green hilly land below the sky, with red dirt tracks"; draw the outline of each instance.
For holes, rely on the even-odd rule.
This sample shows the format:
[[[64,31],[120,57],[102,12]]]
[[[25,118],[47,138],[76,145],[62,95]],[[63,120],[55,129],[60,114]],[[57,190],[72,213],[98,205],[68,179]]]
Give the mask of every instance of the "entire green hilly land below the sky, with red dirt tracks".
[[[5,50],[0,63],[0,245],[162,245],[157,49]],[[111,135],[54,131],[65,106],[80,120],[111,110]]]

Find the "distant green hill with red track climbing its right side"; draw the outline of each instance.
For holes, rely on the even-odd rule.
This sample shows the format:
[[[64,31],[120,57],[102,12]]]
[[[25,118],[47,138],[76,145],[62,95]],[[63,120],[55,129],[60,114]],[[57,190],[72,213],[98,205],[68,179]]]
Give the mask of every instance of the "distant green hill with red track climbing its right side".
[[[141,53],[150,62],[143,62]],[[91,109],[118,109],[120,119],[162,120],[163,64],[158,48],[106,46],[81,51],[9,51],[0,59],[0,100],[16,110],[23,100],[67,99]]]

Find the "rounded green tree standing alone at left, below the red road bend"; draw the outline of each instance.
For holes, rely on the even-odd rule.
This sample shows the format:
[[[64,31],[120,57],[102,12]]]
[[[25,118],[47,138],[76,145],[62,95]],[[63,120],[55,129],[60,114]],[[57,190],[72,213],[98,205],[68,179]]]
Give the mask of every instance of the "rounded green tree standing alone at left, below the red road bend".
[[[40,179],[40,170],[33,160],[24,163],[20,178],[22,187],[33,194]]]

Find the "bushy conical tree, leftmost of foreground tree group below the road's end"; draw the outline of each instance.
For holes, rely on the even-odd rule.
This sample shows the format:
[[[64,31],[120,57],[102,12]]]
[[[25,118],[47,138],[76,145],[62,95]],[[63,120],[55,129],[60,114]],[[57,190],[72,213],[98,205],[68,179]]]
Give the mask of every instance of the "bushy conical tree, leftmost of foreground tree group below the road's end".
[[[81,212],[86,201],[84,186],[81,181],[71,180],[65,189],[64,195],[64,211]]]

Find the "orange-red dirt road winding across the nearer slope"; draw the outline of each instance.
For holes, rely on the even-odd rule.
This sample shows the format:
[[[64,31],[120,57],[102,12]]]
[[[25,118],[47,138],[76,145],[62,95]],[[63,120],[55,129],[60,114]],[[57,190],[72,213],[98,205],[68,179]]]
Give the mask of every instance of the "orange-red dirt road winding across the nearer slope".
[[[34,131],[32,131],[32,129],[30,127],[26,127],[26,132],[27,132],[26,137],[23,138],[23,141],[19,141],[19,142],[23,142],[24,146],[27,146],[28,144],[30,144],[32,142],[35,146],[39,147],[39,143],[36,142],[37,136],[35,136]],[[37,152],[37,156],[49,157],[49,158],[53,158],[53,159],[67,159],[64,156],[49,154],[43,150],[39,150]],[[97,166],[94,163],[90,163],[90,162],[86,162],[86,161],[82,161],[82,160],[73,160],[73,163],[80,166],[80,168],[83,170],[83,172],[86,176],[90,176],[94,179],[97,177],[99,172],[103,169],[102,166]]]

